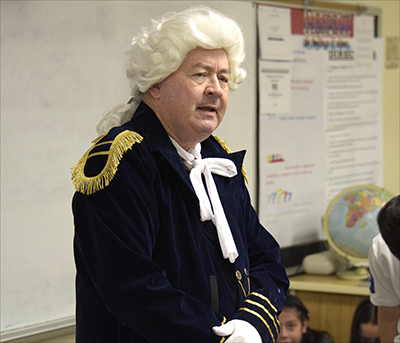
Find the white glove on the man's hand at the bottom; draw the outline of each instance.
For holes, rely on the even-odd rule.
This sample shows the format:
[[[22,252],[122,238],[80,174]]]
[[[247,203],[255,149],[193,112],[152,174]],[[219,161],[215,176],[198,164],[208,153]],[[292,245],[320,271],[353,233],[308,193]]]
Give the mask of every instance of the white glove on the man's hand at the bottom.
[[[225,343],[262,343],[257,329],[240,319],[233,319],[221,326],[214,326],[213,332],[217,336],[230,336]]]

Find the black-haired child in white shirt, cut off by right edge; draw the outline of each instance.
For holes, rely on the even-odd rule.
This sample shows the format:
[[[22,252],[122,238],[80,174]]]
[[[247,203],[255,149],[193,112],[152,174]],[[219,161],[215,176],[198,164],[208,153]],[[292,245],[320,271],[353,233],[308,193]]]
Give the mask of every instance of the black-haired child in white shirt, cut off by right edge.
[[[378,306],[382,342],[400,342],[400,196],[378,214],[380,234],[369,251],[371,302]]]

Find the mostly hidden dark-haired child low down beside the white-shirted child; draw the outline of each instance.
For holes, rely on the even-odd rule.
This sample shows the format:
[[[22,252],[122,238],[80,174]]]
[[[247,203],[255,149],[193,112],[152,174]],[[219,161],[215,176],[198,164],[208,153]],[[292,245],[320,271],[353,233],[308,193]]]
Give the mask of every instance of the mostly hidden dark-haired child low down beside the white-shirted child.
[[[380,343],[377,307],[369,298],[361,300],[354,311],[350,343]]]

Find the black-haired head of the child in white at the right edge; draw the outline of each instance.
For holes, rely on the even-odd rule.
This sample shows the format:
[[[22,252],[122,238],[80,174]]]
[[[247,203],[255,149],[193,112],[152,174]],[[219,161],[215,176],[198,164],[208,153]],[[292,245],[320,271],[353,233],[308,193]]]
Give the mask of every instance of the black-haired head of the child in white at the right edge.
[[[392,254],[400,260],[400,195],[381,208],[377,221],[382,238]]]

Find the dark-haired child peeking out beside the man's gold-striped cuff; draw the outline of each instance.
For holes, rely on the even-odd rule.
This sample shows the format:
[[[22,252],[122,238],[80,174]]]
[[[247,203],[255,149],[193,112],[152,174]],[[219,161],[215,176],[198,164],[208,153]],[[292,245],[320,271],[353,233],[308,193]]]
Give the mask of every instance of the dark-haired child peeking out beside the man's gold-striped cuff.
[[[281,334],[277,343],[333,343],[327,332],[309,328],[308,320],[308,310],[302,301],[288,294],[279,315]]]

